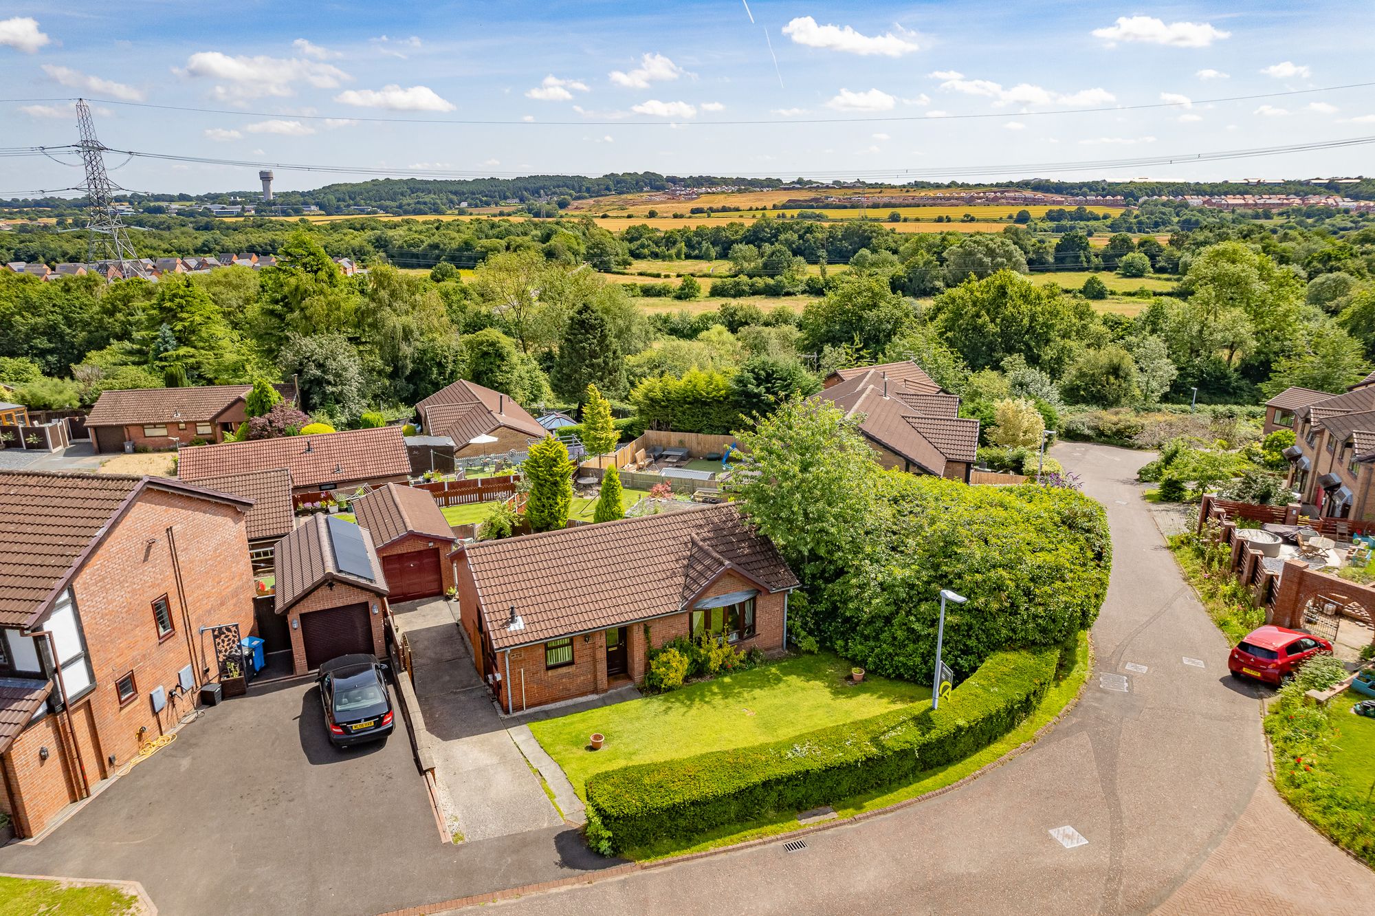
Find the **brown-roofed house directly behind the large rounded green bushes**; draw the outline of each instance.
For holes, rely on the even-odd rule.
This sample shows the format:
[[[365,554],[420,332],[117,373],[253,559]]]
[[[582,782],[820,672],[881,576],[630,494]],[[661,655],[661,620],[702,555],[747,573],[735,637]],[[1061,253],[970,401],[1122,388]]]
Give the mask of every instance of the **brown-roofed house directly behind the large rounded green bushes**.
[[[842,369],[815,395],[847,417],[884,468],[969,483],[978,458],[979,421],[960,417],[960,396],[940,388],[913,362]]]

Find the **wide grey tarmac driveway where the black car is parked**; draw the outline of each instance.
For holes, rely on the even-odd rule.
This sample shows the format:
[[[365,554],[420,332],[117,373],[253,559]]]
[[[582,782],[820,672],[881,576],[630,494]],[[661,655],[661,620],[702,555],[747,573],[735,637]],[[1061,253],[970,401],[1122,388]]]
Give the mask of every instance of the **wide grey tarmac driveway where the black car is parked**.
[[[41,843],[0,849],[0,872],[138,880],[162,916],[362,916],[605,866],[562,825],[443,842],[396,722],[385,744],[340,751],[314,682],[257,685]]]

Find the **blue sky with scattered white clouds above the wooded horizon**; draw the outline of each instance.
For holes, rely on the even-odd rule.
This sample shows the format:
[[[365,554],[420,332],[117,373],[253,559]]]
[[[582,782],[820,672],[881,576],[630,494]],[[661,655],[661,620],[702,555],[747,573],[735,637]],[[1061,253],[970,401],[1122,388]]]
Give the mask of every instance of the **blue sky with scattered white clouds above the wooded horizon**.
[[[1364,66],[1375,51],[1371,10],[978,0],[756,0],[748,8],[744,0],[6,3],[0,95],[217,109],[106,103],[96,125],[117,149],[252,162],[492,175],[891,175],[1375,135],[1371,88],[1203,102],[1375,80]],[[1159,102],[1177,105],[1084,111]],[[3,146],[73,142],[67,106],[0,103]],[[989,117],[949,117],[969,114]],[[799,122],[817,118],[840,121]],[[763,124],[720,124],[741,120]],[[1361,173],[1368,155],[1354,147],[1042,173]],[[74,172],[45,158],[7,158],[0,195],[65,187]],[[250,188],[256,169],[135,160],[113,177],[133,190],[210,191]],[[279,188],[348,179],[276,169]]]

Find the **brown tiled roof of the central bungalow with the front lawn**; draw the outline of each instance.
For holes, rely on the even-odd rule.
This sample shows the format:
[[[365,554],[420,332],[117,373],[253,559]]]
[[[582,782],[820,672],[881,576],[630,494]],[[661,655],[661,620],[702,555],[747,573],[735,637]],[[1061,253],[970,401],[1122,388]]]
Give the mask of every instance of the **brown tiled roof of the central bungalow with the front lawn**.
[[[769,591],[798,578],[733,505],[624,519],[462,547],[496,649],[646,620],[683,608],[718,554]],[[516,608],[524,626],[509,629]]]

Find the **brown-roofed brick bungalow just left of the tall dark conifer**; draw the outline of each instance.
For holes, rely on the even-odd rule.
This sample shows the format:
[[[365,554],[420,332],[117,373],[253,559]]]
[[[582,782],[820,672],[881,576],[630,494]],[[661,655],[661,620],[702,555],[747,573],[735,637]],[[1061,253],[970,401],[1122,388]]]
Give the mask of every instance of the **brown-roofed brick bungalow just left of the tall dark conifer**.
[[[549,435],[514,397],[466,380],[439,389],[415,404],[415,411],[428,435],[454,441],[456,458],[524,451]],[[473,443],[478,436],[496,441]]]

